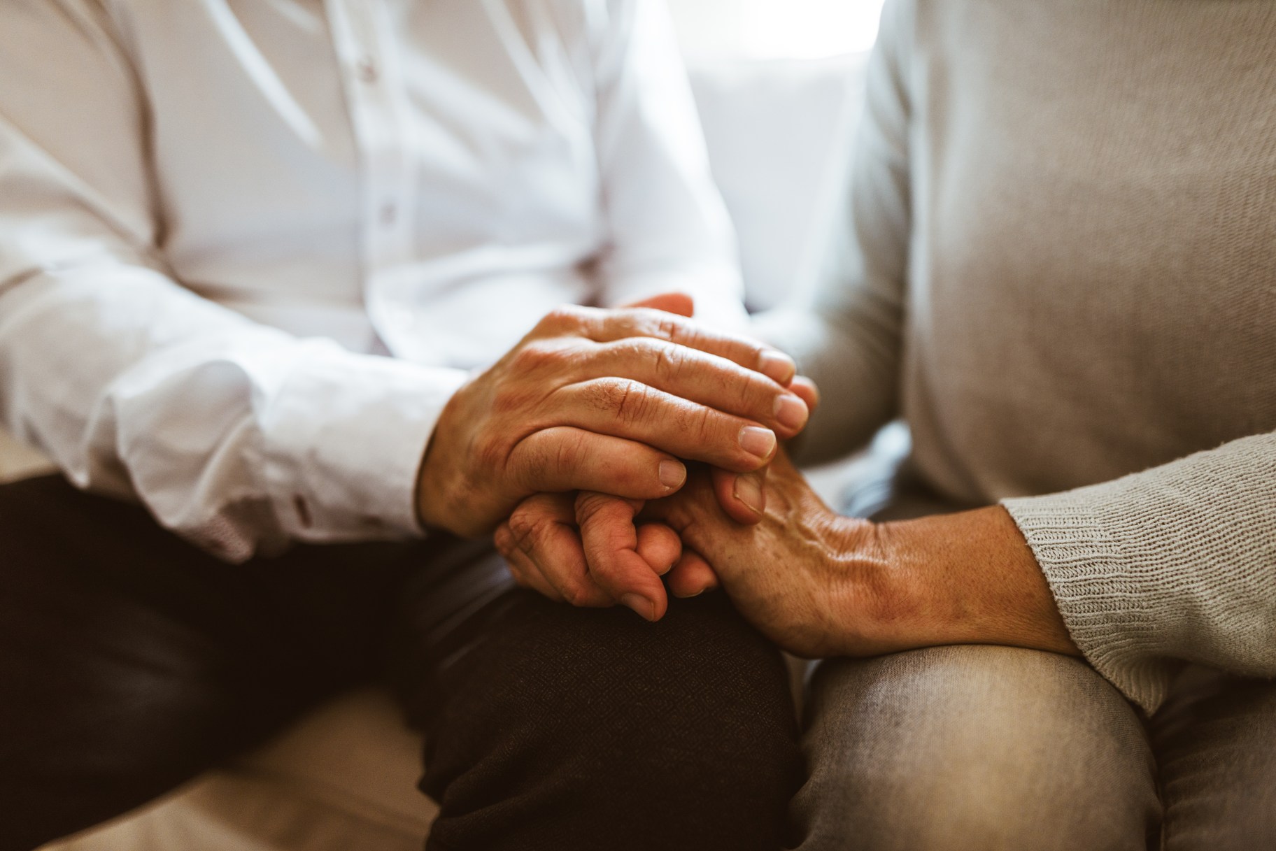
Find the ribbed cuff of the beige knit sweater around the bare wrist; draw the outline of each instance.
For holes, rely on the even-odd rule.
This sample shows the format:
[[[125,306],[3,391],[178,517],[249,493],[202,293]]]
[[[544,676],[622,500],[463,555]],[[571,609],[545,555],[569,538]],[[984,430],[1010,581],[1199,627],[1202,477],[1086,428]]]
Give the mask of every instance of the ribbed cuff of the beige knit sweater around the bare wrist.
[[[1072,640],[1095,670],[1151,714],[1176,667],[1156,655],[1164,579],[1132,559],[1120,538],[1129,507],[1094,491],[1002,504],[1045,572]]]

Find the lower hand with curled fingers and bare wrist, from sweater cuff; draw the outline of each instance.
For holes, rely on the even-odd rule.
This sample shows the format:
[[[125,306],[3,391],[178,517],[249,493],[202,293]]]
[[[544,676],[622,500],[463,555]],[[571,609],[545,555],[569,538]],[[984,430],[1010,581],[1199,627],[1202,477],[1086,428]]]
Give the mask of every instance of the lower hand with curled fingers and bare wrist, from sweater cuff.
[[[721,586],[763,634],[810,658],[963,643],[1078,655],[1000,505],[893,523],[841,517],[781,450],[767,473],[766,508],[744,523],[732,482],[757,476],[695,464],[679,492],[646,504],[554,498],[553,532],[531,547],[551,570],[521,563],[516,575],[526,570],[524,584],[578,605],[637,593],[641,601],[625,605],[651,620],[665,611],[666,588],[688,597]],[[574,554],[574,573],[553,572],[561,554]],[[530,558],[516,547],[516,559]],[[583,592],[564,593],[558,582]],[[644,610],[653,598],[658,606]]]

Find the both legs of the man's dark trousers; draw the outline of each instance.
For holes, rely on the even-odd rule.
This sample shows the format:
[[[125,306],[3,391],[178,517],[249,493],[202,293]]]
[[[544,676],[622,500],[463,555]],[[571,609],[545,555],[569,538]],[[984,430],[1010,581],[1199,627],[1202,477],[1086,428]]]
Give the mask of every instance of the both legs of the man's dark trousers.
[[[485,546],[441,537],[227,565],[57,478],[0,487],[0,677],[15,697],[0,800],[24,814],[4,851],[140,804],[387,674],[431,743],[438,842],[458,848],[536,847],[546,831],[518,836],[528,808],[553,818],[564,796],[628,803],[592,827],[560,811],[567,833],[545,847],[606,831],[602,815],[633,825],[632,847],[643,831],[670,842],[675,823],[681,841],[704,805],[686,796],[716,791],[740,811],[701,820],[746,825],[753,847],[798,782],[782,663],[722,600],[656,625],[577,611],[508,591]],[[664,781],[686,796],[632,788]]]

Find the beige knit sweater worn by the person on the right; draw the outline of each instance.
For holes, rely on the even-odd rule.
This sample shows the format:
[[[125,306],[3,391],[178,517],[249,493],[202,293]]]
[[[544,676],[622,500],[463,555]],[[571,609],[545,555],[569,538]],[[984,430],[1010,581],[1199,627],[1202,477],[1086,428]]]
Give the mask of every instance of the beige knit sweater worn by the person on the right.
[[[814,455],[903,416],[1148,712],[1276,675],[1276,3],[888,3],[808,310]]]

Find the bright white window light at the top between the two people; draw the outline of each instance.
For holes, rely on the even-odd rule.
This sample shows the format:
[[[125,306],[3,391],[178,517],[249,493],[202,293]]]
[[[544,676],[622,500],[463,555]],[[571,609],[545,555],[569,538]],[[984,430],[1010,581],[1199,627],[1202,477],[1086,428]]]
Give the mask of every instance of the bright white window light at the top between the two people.
[[[817,59],[868,50],[883,0],[669,0],[697,56]]]

